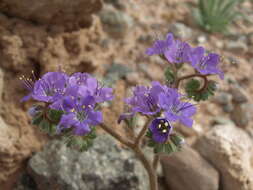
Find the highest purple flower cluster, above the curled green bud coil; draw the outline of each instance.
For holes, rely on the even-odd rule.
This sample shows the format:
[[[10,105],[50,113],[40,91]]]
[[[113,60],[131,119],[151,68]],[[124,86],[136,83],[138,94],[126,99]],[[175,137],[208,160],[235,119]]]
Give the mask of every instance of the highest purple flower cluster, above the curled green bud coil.
[[[220,56],[215,53],[207,54],[201,46],[192,48],[188,43],[176,40],[172,33],[168,33],[165,40],[157,40],[151,48],[146,50],[147,55],[163,55],[172,64],[188,63],[200,74],[217,74],[224,78],[219,68]]]

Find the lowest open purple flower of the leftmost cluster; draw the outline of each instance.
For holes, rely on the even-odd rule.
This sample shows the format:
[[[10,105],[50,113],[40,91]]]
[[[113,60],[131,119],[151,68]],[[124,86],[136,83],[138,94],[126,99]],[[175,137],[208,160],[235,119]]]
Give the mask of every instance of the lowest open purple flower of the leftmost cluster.
[[[66,112],[57,126],[58,132],[64,128],[73,128],[75,135],[85,135],[91,131],[90,126],[102,122],[102,113],[95,111],[95,99],[92,96],[83,98],[66,97],[63,100],[63,109]]]

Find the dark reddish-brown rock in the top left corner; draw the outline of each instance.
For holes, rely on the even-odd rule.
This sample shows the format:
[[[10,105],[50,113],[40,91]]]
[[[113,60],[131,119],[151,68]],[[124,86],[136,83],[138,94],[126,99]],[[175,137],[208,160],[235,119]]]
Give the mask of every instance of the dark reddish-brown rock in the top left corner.
[[[102,8],[101,0],[2,0],[0,11],[40,24],[83,28],[91,25],[91,14]]]

